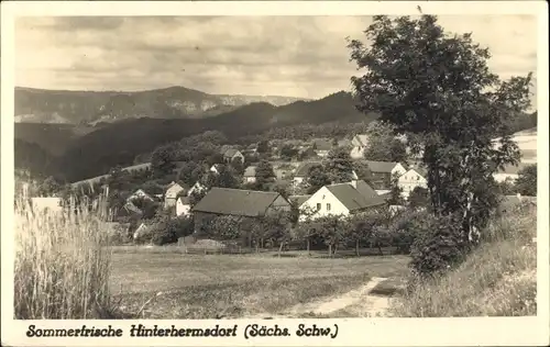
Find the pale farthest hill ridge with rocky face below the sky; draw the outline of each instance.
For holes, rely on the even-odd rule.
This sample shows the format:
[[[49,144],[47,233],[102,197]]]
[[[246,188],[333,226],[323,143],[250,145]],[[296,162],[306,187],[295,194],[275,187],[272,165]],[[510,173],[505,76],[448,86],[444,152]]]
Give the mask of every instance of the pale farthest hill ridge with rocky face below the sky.
[[[169,87],[146,91],[70,91],[15,88],[15,122],[91,125],[135,117],[213,116],[253,102],[284,105],[300,98],[216,96]]]

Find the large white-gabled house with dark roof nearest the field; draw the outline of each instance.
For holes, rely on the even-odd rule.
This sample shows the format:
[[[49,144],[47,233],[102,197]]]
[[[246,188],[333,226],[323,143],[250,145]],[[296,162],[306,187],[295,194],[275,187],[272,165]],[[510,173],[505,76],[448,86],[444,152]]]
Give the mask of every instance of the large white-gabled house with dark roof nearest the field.
[[[363,180],[324,186],[300,205],[300,221],[329,215],[348,216],[382,208],[386,201]]]

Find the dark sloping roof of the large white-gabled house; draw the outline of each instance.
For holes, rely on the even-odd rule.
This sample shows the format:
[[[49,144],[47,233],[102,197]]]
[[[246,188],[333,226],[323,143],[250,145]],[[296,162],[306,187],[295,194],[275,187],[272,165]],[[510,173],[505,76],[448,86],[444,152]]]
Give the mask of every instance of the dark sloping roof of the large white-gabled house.
[[[361,187],[359,189],[355,189],[351,183],[338,183],[326,187],[350,211],[359,211],[385,203],[369,184],[364,181],[361,182],[361,184],[358,182],[358,187]]]

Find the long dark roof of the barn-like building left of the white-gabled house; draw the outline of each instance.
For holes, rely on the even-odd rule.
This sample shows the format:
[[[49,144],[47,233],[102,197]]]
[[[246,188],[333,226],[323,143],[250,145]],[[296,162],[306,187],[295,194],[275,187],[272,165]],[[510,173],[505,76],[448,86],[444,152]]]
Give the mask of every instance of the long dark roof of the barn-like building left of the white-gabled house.
[[[277,192],[263,192],[229,188],[212,188],[194,211],[242,216],[261,216],[279,197]]]

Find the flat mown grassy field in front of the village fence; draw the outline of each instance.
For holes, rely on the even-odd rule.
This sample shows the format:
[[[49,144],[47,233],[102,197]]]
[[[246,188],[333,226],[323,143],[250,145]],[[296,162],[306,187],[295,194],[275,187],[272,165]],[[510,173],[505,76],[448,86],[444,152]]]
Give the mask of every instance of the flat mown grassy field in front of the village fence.
[[[121,310],[145,318],[276,315],[295,304],[399,278],[404,256],[322,259],[116,253],[110,288]],[[118,293],[121,294],[118,294]]]

